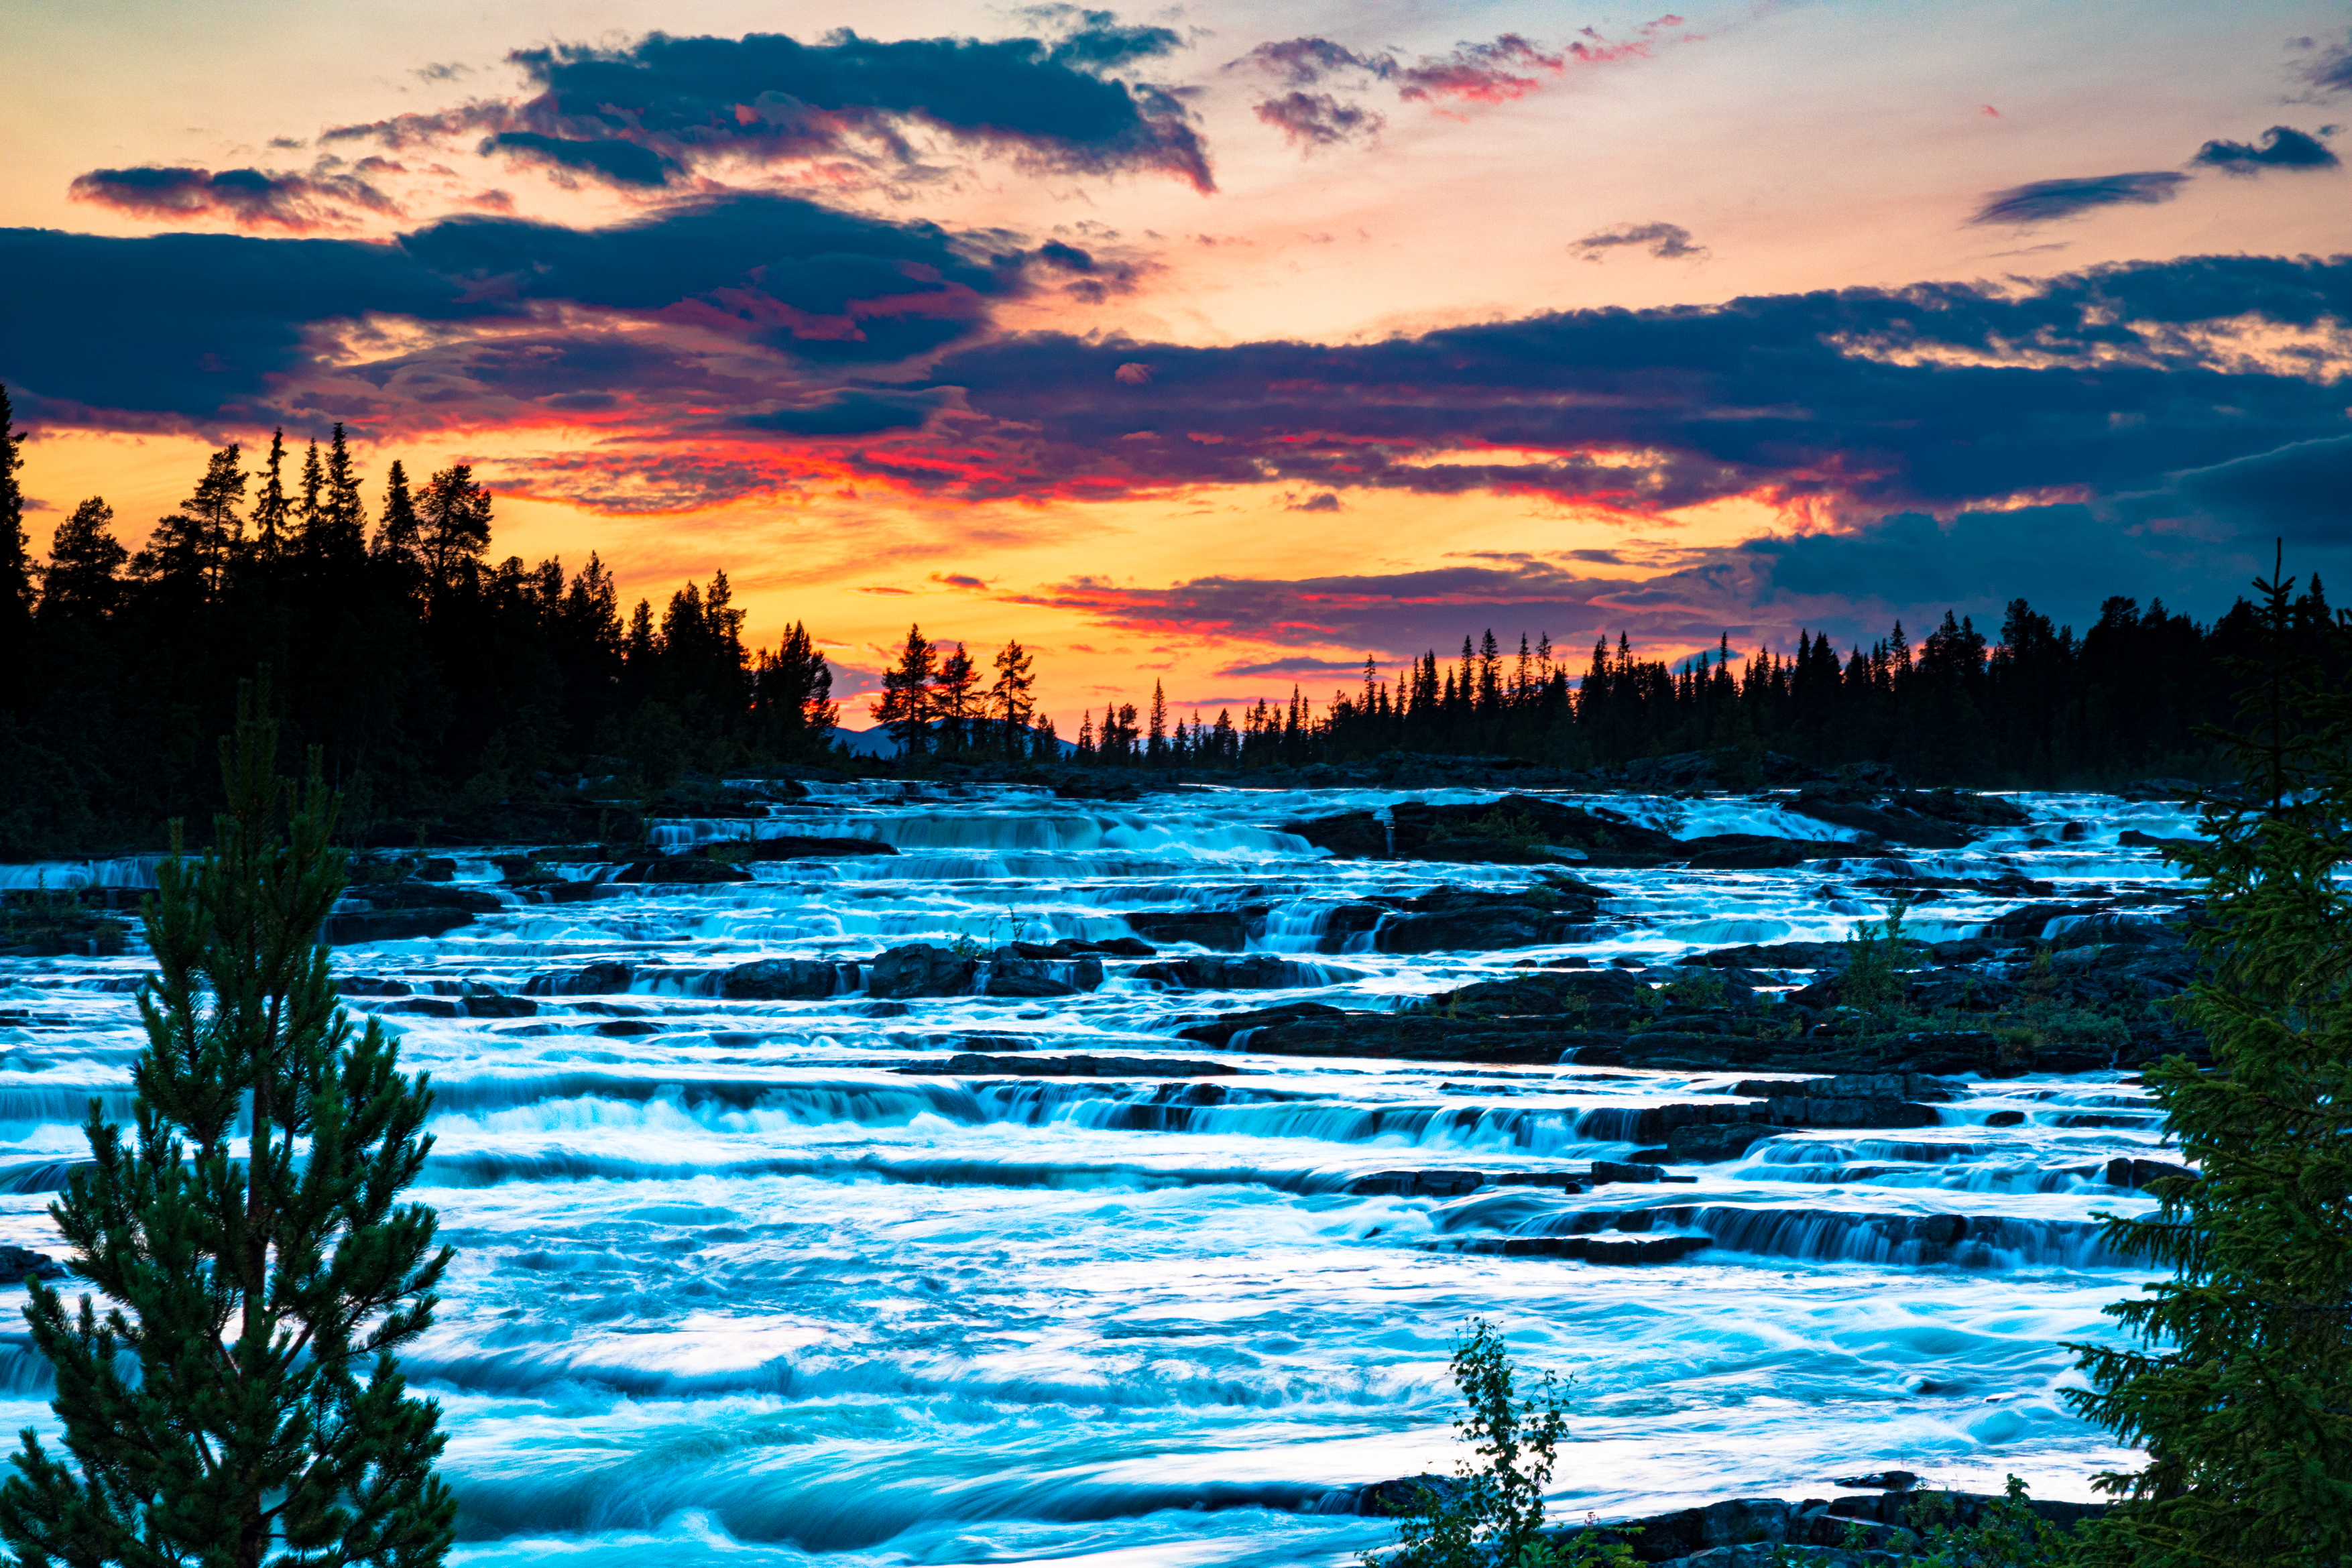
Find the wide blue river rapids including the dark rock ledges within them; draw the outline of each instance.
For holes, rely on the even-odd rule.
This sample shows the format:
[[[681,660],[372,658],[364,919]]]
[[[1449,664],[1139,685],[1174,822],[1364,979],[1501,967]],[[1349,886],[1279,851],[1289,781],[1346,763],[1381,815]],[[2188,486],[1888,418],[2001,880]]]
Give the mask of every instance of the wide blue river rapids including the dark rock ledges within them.
[[[327,936],[440,1095],[459,1260],[409,1375],[459,1561],[1348,1563],[1367,1488],[1451,1469],[1472,1314],[1573,1375],[1564,1521],[1797,1540],[1865,1472],[2091,1497],[2129,1455],[2063,1342],[2143,1279],[2098,1215],[2178,1173],[2138,1074],[2199,1048],[2161,1006],[2190,816],[1456,827],[1498,799],[809,783],[365,863]],[[1896,898],[1910,999],[1863,1013],[1846,938]],[[0,959],[0,1293],[61,1255],[89,1098],[127,1117],[141,973]],[[0,1422],[47,1429],[0,1356]]]

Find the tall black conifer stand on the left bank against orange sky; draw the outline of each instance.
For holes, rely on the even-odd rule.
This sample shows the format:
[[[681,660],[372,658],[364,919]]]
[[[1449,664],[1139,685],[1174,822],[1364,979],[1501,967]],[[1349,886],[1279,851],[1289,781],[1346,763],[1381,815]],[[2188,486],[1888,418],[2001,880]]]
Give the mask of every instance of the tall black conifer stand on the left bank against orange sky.
[[[590,555],[492,557],[463,463],[362,482],[343,428],[212,454],[132,552],[82,501],[26,548],[24,435],[0,390],[0,856],[155,844],[219,806],[212,736],[270,670],[292,755],[320,748],[346,827],[572,797],[621,778],[828,755],[833,672],[793,625],[743,644],[727,574],[623,616]]]

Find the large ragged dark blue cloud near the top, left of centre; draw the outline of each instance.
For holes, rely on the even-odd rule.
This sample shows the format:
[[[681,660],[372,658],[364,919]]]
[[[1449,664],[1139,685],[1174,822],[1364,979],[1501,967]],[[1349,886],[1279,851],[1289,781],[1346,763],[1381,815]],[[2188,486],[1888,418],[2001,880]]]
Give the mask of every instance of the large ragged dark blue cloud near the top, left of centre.
[[[924,127],[1056,169],[1164,172],[1211,190],[1181,99],[1101,75],[1169,52],[1176,35],[1120,26],[1108,12],[1070,19],[1058,40],[652,33],[616,49],[520,49],[508,59],[539,89],[529,99],[346,125],[327,139],[405,146],[482,134],[485,150],[656,186],[717,158],[880,158],[906,172],[915,162],[906,132]]]

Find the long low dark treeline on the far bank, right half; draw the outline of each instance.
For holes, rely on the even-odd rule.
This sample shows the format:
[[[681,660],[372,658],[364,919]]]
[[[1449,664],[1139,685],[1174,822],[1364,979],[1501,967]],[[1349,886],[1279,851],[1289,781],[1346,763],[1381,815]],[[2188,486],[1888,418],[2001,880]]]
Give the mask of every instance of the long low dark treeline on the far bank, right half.
[[[2328,642],[2319,578],[2291,607],[2298,658],[2352,677]],[[1997,637],[1950,611],[1917,646],[1898,621],[1872,646],[1839,651],[1799,632],[1795,654],[1715,651],[1670,663],[1632,642],[1597,642],[1581,672],[1548,637],[1505,654],[1489,630],[1461,658],[1423,654],[1397,679],[1364,663],[1355,691],[1312,703],[1258,701],[1240,717],[1169,717],[1150,703],[1089,710],[1082,762],[1108,766],[1279,769],[1364,762],[1383,752],[1519,757],[1564,769],[1623,769],[1644,757],[1778,752],[1809,766],[1882,762],[1915,783],[2098,788],[2143,776],[2216,778],[2225,757],[2204,736],[2232,717],[2246,668],[2265,654],[2256,609],[2239,599],[2211,625],[2112,597],[2086,632],[2013,599]],[[2328,663],[2333,661],[2333,663]]]

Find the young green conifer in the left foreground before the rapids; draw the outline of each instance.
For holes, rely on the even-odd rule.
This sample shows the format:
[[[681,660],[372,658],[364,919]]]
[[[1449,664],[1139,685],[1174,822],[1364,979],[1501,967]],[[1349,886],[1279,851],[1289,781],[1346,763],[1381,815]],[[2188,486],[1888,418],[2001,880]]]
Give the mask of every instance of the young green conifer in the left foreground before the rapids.
[[[136,1138],[92,1103],[92,1166],[49,1208],[111,1307],[31,1286],[73,1462],[26,1432],[0,1486],[28,1568],[428,1568],[454,1533],[440,1406],[393,1356],[449,1265],[433,1211],[397,1204],[433,1095],[336,1009],[318,943],[343,889],[334,797],[315,762],[301,790],[273,776],[266,710],[266,689],[240,693],[228,816],[146,905]]]

